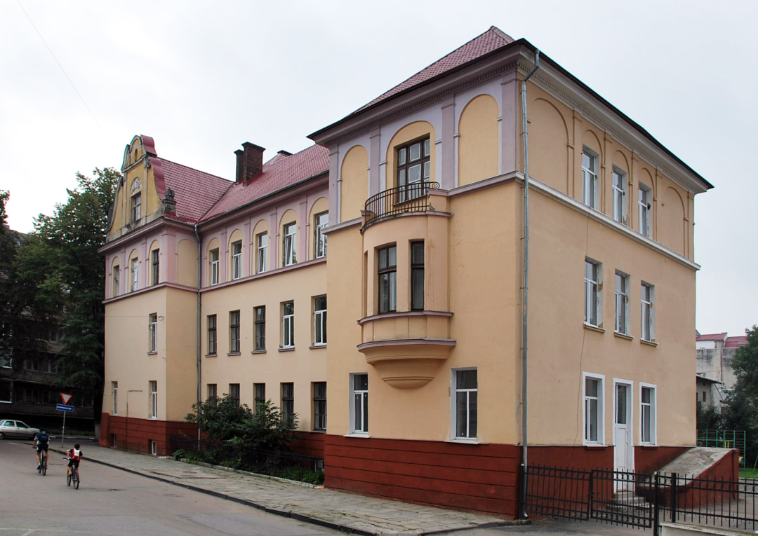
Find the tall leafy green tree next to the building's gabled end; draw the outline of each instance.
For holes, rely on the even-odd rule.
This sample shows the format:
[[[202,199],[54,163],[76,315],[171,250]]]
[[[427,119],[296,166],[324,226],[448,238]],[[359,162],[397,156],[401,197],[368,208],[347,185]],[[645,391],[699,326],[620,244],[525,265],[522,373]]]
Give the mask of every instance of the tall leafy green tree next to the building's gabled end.
[[[77,173],[77,188],[52,216],[40,214],[35,232],[20,250],[21,282],[36,285],[36,304],[64,329],[58,382],[91,397],[96,428],[102,413],[105,348],[105,245],[108,210],[121,173],[106,167]]]

